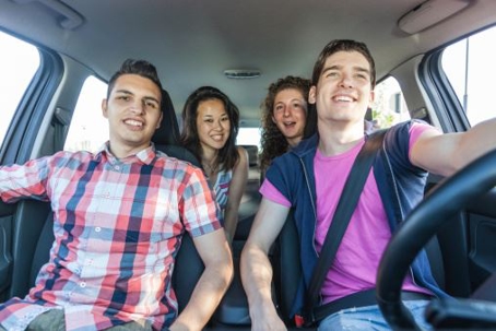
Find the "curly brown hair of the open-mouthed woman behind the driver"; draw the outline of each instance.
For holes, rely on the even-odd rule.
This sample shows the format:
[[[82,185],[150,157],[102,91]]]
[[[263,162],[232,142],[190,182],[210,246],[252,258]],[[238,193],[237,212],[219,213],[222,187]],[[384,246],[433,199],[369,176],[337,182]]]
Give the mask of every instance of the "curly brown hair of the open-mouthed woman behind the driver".
[[[274,111],[275,96],[283,90],[294,88],[302,93],[303,97],[308,104],[308,92],[310,91],[310,81],[307,79],[288,75],[283,79],[279,79],[275,83],[269,86],[269,92],[263,101],[262,108],[262,128],[261,128],[261,153],[260,153],[260,169],[262,173],[269,167],[272,159],[276,156],[284,154],[288,149],[286,138],[279,130],[277,126],[272,120]],[[311,105],[308,105],[311,106]],[[309,119],[310,108],[307,109],[304,138],[307,138],[316,131],[315,127],[310,129],[311,122]],[[311,117],[314,118],[314,117]],[[315,117],[316,119],[316,117]],[[310,132],[312,131],[312,132]]]

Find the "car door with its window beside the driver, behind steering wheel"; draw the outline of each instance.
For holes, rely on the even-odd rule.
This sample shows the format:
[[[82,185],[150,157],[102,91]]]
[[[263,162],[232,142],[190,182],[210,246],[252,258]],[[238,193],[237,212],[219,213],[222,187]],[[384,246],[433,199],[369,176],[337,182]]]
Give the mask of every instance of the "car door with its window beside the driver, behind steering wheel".
[[[437,120],[445,132],[460,132],[496,116],[491,103],[496,82],[496,42],[489,27],[428,54],[420,66]],[[430,176],[433,187],[441,178]],[[496,189],[473,201],[438,234],[449,293],[468,297],[496,272]],[[496,299],[493,298],[493,300]]]

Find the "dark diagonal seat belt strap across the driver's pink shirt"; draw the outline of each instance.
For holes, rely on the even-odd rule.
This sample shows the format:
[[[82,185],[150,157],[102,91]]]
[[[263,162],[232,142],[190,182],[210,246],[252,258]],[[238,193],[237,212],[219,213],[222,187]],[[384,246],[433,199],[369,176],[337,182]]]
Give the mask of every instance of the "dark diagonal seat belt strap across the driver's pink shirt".
[[[332,265],[338,248],[344,236],[353,212],[358,203],[358,198],[363,191],[365,181],[377,154],[377,151],[382,145],[383,137],[387,129],[376,131],[368,135],[353,163],[352,170],[346,178],[343,192],[340,197],[334,216],[326,235],[326,240],[322,245],[320,256],[311,275],[310,285],[308,286],[305,307],[304,307],[304,323],[311,324],[317,321],[314,314],[314,308],[318,305],[320,289],[323,280],[326,279],[329,269]],[[298,319],[299,317],[297,317]]]

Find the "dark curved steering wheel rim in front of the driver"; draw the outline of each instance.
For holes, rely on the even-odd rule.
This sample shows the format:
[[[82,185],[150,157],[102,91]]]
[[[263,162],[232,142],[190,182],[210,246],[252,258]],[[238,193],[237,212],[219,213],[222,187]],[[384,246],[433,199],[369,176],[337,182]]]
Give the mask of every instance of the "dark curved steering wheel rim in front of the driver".
[[[475,159],[433,189],[393,234],[379,263],[376,298],[393,330],[421,330],[401,302],[410,264],[441,225],[496,186],[496,150]]]

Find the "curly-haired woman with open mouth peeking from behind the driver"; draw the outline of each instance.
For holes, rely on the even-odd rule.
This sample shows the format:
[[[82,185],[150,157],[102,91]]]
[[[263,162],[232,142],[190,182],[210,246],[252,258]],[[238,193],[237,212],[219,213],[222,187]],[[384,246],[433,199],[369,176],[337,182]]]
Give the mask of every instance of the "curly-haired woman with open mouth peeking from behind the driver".
[[[272,83],[268,90],[262,103],[262,178],[272,159],[316,132],[317,128],[316,116],[308,111],[309,80],[288,75]]]

